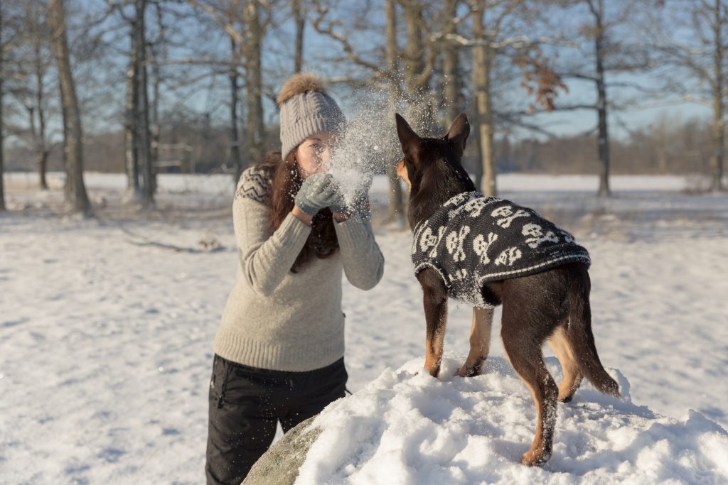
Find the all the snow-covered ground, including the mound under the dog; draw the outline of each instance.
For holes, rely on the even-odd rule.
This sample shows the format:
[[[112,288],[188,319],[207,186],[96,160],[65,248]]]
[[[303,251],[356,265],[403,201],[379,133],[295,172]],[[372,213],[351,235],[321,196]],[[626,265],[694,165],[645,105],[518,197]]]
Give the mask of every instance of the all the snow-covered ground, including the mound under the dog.
[[[234,281],[227,176],[162,176],[157,212],[119,207],[124,177],[86,177],[98,218],[59,215],[58,175],[6,177],[0,215],[0,484],[204,482],[211,344]],[[319,419],[301,484],[728,483],[728,196],[682,177],[504,175],[501,196],[590,250],[593,330],[617,400],[582,386],[559,405],[553,458],[518,464],[535,426],[503,358],[450,374],[470,308],[451,304],[440,380],[424,362],[411,235],[375,227],[386,265],[344,282],[354,392]],[[372,188],[375,217],[386,180]],[[210,250],[210,248],[216,248]],[[547,352],[547,355],[551,355]],[[548,361],[558,378],[558,365]]]

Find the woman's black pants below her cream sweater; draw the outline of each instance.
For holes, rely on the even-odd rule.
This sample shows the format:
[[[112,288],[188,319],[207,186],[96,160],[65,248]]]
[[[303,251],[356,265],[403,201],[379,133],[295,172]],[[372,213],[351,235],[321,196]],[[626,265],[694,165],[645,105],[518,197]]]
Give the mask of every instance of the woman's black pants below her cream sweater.
[[[344,358],[309,372],[243,366],[215,355],[207,425],[207,485],[240,484],[283,432],[344,397]]]

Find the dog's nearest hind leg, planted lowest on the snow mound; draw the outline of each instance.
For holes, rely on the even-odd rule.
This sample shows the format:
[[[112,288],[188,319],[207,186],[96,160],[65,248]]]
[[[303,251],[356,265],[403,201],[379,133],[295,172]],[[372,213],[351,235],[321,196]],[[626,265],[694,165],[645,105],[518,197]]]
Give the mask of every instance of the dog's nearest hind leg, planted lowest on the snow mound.
[[[518,377],[531,391],[536,404],[536,434],[531,449],[523,454],[523,465],[542,465],[551,456],[553,431],[556,425],[558,388],[543,361],[542,328],[537,319],[523,321],[518,311],[509,311],[504,304],[501,335],[506,354]]]

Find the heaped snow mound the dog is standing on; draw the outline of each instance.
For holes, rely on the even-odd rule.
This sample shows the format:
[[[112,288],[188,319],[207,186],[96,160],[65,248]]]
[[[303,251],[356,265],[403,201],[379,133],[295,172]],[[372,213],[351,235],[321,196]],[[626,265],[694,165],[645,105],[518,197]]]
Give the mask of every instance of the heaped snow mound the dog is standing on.
[[[503,358],[472,378],[454,376],[461,363],[446,357],[434,379],[412,360],[328,406],[312,423],[322,432],[296,484],[728,483],[728,432],[692,410],[674,420],[633,404],[614,369],[624,397],[584,382],[558,404],[549,462],[523,466],[536,424],[531,394]],[[558,361],[547,366],[558,382]]]

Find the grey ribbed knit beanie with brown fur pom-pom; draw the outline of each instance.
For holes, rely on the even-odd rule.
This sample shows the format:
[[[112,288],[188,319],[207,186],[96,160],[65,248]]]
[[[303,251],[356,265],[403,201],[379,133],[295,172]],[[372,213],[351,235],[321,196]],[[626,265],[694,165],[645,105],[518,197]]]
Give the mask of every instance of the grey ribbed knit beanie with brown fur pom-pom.
[[[299,73],[285,81],[276,100],[280,106],[283,159],[306,138],[321,132],[341,132],[347,119],[314,74]]]

